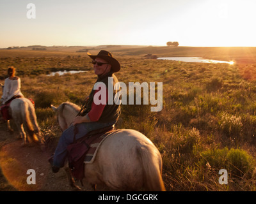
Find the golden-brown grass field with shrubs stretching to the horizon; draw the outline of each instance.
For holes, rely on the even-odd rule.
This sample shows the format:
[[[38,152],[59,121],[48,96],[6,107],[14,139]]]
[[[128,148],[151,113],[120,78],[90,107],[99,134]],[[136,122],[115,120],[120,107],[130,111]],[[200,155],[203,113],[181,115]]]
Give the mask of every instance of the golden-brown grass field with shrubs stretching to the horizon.
[[[106,48],[107,49],[107,48]],[[163,110],[122,105],[118,128],[132,128],[155,143],[163,157],[168,191],[255,191],[256,48],[111,47],[120,82],[163,82]],[[89,50],[97,54],[99,49]],[[204,64],[143,58],[204,57],[235,64]],[[15,66],[22,92],[33,98],[40,128],[58,138],[50,105],[83,103],[96,81],[90,58],[74,48],[0,50],[0,82]],[[87,73],[47,77],[56,70]],[[50,133],[50,134],[49,134]],[[50,144],[51,145],[51,144]],[[52,147],[54,148],[54,147]],[[228,184],[218,182],[226,169]]]

